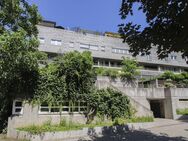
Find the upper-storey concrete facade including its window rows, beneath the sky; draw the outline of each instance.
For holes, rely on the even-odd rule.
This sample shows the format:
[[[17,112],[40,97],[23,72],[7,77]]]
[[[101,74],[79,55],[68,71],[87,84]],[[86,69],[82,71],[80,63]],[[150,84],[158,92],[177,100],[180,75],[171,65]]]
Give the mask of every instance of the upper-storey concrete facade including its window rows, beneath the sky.
[[[131,53],[128,52],[129,46],[123,43],[123,40],[120,38],[55,28],[55,24],[54,26],[38,25],[38,29],[38,36],[43,40],[43,43],[39,46],[39,50],[49,54],[63,54],[74,50],[83,52],[88,50],[92,53],[96,67],[118,67],[118,62],[122,60],[122,57],[132,58]],[[51,43],[52,40],[57,40],[60,42],[60,45],[53,45]],[[81,45],[90,45],[95,48],[82,48],[80,47]],[[117,49],[116,52],[114,52],[114,49]],[[122,52],[117,53],[120,50]],[[141,70],[143,76],[158,75],[165,70],[172,70],[177,73],[188,70],[188,65],[182,59],[180,53],[172,53],[168,58],[159,60],[156,54],[156,47],[153,47],[151,50],[151,55],[139,55],[136,59],[144,66]]]

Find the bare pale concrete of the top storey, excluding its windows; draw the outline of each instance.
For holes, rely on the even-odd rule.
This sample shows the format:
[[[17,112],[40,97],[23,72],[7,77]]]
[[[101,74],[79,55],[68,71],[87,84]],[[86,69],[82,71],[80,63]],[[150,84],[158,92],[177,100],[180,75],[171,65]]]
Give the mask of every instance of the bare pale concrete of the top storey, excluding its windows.
[[[123,43],[120,38],[112,38],[101,35],[94,35],[90,33],[81,33],[70,30],[63,30],[53,27],[46,26],[38,26],[39,37],[45,38],[45,43],[41,44],[39,49],[45,52],[53,52],[53,53],[65,53],[68,51],[78,50],[80,52],[84,51],[84,49],[80,49],[79,44],[90,44],[99,46],[99,50],[90,50],[92,52],[92,56],[96,58],[108,58],[114,60],[122,60],[122,56],[132,58],[130,54],[116,54],[112,53],[112,48],[120,48],[120,49],[129,49],[128,44]],[[50,44],[51,39],[62,40],[61,46],[54,46]],[[69,47],[69,43],[73,42],[74,47]],[[101,47],[105,47],[105,51],[101,51]],[[150,59],[147,56],[137,56],[139,62],[147,63],[147,64],[161,64],[167,66],[181,66],[188,67],[186,61],[182,59],[181,54],[177,53],[177,60],[159,60],[156,54],[157,48],[153,47],[151,50]],[[156,73],[156,72],[155,72]]]

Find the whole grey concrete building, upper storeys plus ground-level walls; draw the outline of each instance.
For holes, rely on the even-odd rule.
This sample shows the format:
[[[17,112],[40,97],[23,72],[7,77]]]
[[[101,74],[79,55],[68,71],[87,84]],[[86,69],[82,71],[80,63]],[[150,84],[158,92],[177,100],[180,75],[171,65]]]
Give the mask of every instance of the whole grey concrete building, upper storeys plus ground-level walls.
[[[54,22],[43,22],[38,25],[39,29],[39,50],[46,52],[49,58],[58,54],[70,51],[91,51],[95,67],[118,68],[121,65],[122,57],[130,57],[129,47],[122,43],[118,35],[111,33],[98,33],[86,30],[74,29],[65,30],[56,26]],[[186,61],[179,53],[171,53],[168,58],[158,60],[156,48],[153,47],[151,55],[137,56],[139,64],[143,66],[141,77],[153,77],[170,70],[176,73],[188,71]],[[167,89],[167,88],[131,88],[124,87],[117,79],[110,81],[107,77],[98,77],[96,80],[98,88],[113,87],[127,95],[133,107],[137,110],[137,116],[151,116],[160,118],[180,119],[187,118],[177,115],[177,109],[188,108],[188,89]],[[78,102],[77,111],[69,113],[71,107],[65,104],[65,111],[61,116],[79,122],[85,122],[85,104]],[[15,100],[13,104],[13,115],[9,118],[8,131],[12,128],[30,124],[41,124],[51,119],[52,122],[59,122],[61,116],[58,107],[48,105],[32,106],[28,103]]]

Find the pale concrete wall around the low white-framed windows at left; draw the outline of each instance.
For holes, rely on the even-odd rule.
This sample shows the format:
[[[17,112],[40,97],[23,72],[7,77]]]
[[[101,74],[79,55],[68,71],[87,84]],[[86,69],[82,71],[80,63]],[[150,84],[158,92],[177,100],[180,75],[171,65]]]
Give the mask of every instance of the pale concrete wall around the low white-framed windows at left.
[[[84,114],[62,114],[61,116],[59,114],[39,114],[38,107],[37,105],[32,106],[29,103],[25,103],[22,115],[12,115],[9,117],[8,130],[28,125],[41,125],[47,121],[51,121],[52,124],[58,124],[62,118],[78,123],[86,122]]]

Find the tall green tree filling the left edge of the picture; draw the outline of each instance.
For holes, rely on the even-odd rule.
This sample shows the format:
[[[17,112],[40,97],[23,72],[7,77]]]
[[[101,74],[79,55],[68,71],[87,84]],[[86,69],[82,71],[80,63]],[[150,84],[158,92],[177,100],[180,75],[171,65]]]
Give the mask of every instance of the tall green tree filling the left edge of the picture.
[[[40,20],[37,7],[25,0],[0,1],[0,132],[11,115],[13,99],[34,93]]]

